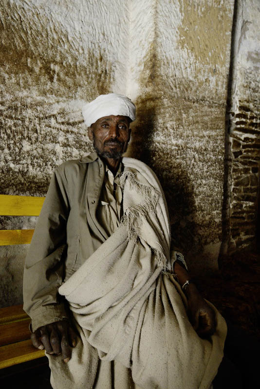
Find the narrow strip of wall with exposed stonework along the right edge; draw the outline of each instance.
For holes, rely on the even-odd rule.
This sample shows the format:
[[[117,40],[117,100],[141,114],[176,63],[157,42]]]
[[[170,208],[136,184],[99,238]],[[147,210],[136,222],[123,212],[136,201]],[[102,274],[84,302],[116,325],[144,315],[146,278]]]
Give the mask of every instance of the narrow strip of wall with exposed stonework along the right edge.
[[[260,2],[238,1],[229,123],[228,233],[225,252],[256,238],[260,165]]]

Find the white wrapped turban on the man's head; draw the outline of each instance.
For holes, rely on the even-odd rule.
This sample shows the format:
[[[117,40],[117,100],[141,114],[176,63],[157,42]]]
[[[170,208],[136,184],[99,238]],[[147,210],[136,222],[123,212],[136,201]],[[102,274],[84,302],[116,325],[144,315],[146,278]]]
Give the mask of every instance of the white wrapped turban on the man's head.
[[[82,107],[82,115],[88,127],[98,119],[109,115],[128,116],[133,121],[135,120],[135,105],[122,94],[101,94]]]

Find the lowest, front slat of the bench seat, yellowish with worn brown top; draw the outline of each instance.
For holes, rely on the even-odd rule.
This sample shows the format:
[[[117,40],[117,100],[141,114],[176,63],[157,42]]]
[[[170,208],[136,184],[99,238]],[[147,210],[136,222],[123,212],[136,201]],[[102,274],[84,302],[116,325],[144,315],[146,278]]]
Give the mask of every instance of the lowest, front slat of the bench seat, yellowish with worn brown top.
[[[0,369],[31,361],[45,355],[44,350],[38,350],[32,345],[31,339],[8,344],[0,348]]]

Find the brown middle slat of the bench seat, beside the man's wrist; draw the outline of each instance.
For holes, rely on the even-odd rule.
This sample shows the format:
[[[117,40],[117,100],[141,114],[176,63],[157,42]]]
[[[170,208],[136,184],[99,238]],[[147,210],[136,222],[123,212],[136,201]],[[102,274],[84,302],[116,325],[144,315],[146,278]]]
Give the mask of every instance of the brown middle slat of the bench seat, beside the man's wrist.
[[[0,346],[30,339],[30,318],[0,325]]]

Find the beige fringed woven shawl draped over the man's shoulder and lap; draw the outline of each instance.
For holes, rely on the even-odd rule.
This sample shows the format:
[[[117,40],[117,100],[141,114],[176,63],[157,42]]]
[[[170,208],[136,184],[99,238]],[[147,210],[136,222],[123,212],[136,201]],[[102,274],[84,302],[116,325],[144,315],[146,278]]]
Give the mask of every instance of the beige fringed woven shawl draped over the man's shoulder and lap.
[[[81,339],[68,364],[52,358],[51,368],[58,364],[53,386],[95,388],[101,358],[131,368],[143,389],[208,389],[223,357],[224,319],[215,310],[210,340],[192,328],[186,298],[169,274],[170,228],[160,184],[142,162],[123,162],[119,228],[59,288]]]

